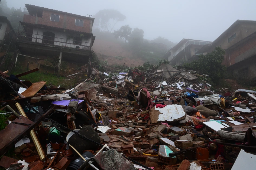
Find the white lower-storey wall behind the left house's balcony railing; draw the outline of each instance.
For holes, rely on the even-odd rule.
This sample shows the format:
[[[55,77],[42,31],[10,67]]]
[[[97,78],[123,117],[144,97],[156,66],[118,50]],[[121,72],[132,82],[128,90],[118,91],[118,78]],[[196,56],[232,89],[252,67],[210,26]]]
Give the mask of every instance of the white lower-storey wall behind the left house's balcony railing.
[[[66,46],[67,33],[62,32],[62,31],[50,30],[50,29],[38,28],[38,33],[37,33],[37,28],[33,28],[32,42],[35,42],[35,40],[36,40],[35,38],[37,38],[37,42],[42,43],[44,32],[52,32],[52,33],[55,34],[54,45],[63,46],[63,47]],[[71,38],[71,39],[67,40],[67,47],[75,48],[76,46],[79,46],[80,49],[87,49],[87,47],[84,47],[84,46],[90,46],[89,43],[91,43],[91,38],[82,39],[82,46],[81,45],[76,45],[76,44],[73,44],[73,39]]]

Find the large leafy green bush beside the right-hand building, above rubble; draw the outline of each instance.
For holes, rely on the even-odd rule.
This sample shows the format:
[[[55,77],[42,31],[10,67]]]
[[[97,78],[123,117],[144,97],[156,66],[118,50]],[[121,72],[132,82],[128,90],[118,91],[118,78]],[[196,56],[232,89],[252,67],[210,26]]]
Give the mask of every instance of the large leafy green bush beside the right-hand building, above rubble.
[[[224,60],[225,50],[221,47],[215,47],[215,50],[205,56],[200,55],[198,60],[191,63],[185,63],[182,67],[200,71],[203,74],[209,75],[206,81],[208,83],[219,84],[225,76],[226,67],[221,65]]]

